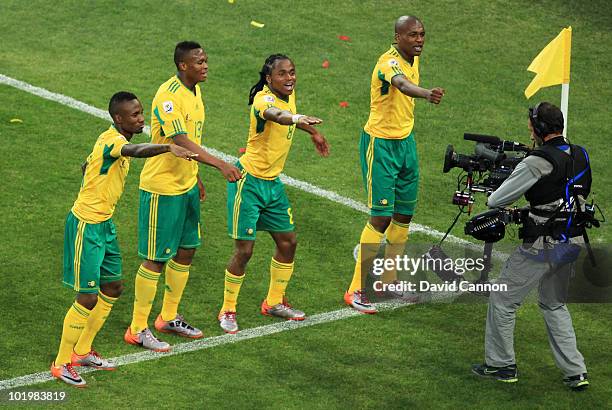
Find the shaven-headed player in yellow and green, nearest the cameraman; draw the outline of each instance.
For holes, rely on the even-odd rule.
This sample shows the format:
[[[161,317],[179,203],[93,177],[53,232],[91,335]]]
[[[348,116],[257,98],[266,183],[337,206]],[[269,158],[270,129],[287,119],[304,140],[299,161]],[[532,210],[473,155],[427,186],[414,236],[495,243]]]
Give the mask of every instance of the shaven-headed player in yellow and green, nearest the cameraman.
[[[395,43],[380,56],[372,72],[370,117],[360,144],[370,220],[361,233],[353,280],[344,295],[346,304],[363,313],[376,313],[376,307],[365,297],[361,251],[368,244],[377,248],[385,236],[391,245],[388,250],[404,244],[417,202],[419,165],[412,132],[414,99],[439,104],[444,95],[441,88],[419,87],[419,56],[424,42],[425,29],[417,17],[398,18]]]

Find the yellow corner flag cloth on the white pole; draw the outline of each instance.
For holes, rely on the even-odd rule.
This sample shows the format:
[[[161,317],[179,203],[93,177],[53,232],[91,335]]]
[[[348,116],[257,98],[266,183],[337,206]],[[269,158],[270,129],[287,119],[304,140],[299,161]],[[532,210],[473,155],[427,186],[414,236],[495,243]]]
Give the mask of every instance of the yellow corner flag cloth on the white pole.
[[[535,78],[525,89],[525,97],[530,98],[542,87],[569,83],[569,67],[572,52],[572,27],[564,28],[536,58],[528,71],[536,73]]]

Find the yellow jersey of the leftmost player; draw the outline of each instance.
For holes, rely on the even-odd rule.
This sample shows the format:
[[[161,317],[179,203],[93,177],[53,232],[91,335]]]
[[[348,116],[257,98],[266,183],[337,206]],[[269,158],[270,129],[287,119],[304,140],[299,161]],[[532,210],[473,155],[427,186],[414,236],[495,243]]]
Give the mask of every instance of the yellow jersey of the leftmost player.
[[[81,190],[72,213],[87,223],[104,222],[113,216],[125,185],[130,159],[121,156],[128,141],[114,125],[104,131],[87,157]]]

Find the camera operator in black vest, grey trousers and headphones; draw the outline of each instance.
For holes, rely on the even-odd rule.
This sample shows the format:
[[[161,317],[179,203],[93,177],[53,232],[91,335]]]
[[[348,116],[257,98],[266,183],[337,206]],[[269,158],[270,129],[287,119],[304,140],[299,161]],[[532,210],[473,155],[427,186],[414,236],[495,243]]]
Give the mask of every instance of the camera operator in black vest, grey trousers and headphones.
[[[507,207],[524,194],[529,216],[521,230],[523,245],[509,257],[497,282],[506,284],[507,291],[490,294],[485,363],[472,366],[472,371],[504,382],[518,381],[513,334],[516,310],[539,285],[538,305],[555,363],[568,387],[583,390],[589,384],[587,370],[576,346],[569,311],[560,297],[567,288],[573,263],[560,258],[556,249],[567,247],[571,238],[576,242],[582,235],[572,221],[578,219],[576,208],[583,206],[590,190],[588,154],[565,140],[563,113],[550,103],[530,108],[528,125],[537,147],[487,201],[490,208]]]

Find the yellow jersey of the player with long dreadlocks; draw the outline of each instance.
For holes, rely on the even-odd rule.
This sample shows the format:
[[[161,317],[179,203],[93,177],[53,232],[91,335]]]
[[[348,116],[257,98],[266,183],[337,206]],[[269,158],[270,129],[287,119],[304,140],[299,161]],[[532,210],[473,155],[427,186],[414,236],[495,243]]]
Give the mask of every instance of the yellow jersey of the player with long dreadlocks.
[[[263,113],[270,107],[296,114],[295,90],[285,101],[264,86],[253,100],[249,138],[240,163],[249,174],[269,180],[276,178],[283,171],[295,131],[295,124],[281,125],[267,121]]]

